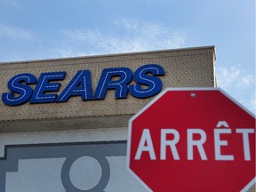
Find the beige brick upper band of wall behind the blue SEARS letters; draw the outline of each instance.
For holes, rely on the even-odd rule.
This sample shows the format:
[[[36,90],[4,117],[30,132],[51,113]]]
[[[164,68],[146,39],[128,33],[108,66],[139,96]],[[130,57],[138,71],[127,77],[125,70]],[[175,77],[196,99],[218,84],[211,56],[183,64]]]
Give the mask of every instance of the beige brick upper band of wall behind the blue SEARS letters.
[[[127,67],[134,72],[140,66],[156,63],[165,70],[161,76],[165,87],[213,87],[214,46],[166,50],[158,52],[137,52],[93,57],[81,57],[60,60],[34,60],[23,62],[0,63],[0,93],[9,92],[7,82],[20,73],[32,73],[38,77],[43,72],[66,71],[67,75],[60,92],[76,72],[89,69],[92,76],[92,92],[98,84],[103,68]],[[164,89],[163,88],[163,89]],[[59,92],[59,93],[60,93]],[[0,102],[0,123],[17,120],[55,119],[81,116],[116,116],[132,115],[145,106],[149,100],[128,98],[116,100],[114,91],[108,91],[105,100],[82,101],[80,97],[71,97],[66,103],[23,104],[9,107]]]

